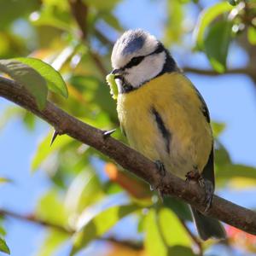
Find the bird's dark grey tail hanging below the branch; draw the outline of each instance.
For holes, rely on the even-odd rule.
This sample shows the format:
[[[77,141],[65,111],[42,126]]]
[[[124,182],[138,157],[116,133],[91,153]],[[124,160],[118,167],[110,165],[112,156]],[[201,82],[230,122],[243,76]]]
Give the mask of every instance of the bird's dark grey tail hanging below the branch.
[[[209,238],[222,240],[226,238],[224,227],[217,219],[207,217],[193,207],[191,207],[191,210],[196,229],[202,240],[207,240]]]

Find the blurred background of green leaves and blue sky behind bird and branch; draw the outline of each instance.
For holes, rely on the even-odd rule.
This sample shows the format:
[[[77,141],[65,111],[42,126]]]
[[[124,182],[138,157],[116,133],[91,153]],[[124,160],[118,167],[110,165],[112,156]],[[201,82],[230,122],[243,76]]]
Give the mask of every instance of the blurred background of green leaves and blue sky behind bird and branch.
[[[9,58],[29,55],[49,63],[67,84],[67,99],[54,70],[15,59],[43,76],[50,101],[102,130],[119,126],[105,83],[113,42],[137,27],[161,38],[212,113],[217,193],[255,208],[255,1],[0,0],[0,7],[1,71],[9,73],[3,61]],[[43,108],[46,94],[38,91]],[[255,236],[229,226],[228,241],[195,244],[181,202],[161,203],[147,184],[67,136],[49,147],[49,125],[2,99],[0,108],[3,252],[255,255]],[[113,137],[125,141],[119,130]]]

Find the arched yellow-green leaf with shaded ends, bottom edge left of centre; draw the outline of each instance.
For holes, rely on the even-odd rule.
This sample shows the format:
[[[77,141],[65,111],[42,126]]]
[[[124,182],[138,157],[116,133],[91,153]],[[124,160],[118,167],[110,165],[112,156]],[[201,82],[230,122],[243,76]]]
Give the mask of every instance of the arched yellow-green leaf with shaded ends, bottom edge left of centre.
[[[138,209],[139,207],[137,205],[118,206],[110,207],[97,214],[94,218],[90,219],[89,222],[86,222],[79,232],[74,235],[72,255],[83,247],[86,247],[93,239],[104,235],[117,224],[121,218],[124,218]]]

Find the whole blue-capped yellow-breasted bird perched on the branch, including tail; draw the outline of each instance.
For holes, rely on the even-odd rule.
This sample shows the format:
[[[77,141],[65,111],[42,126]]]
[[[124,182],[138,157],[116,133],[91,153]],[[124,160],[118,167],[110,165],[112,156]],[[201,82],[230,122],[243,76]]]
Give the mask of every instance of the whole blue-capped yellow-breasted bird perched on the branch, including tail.
[[[161,175],[196,179],[214,192],[210,114],[194,84],[177,67],[160,40],[143,29],[124,32],[113,45],[112,74],[118,87],[117,113],[131,148],[153,160]],[[203,241],[225,239],[222,224],[191,207]]]

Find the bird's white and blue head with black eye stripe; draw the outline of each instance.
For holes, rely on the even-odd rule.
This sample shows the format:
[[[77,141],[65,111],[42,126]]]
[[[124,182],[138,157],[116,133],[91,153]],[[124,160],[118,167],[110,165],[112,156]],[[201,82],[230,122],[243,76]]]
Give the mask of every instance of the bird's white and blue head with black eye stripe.
[[[125,32],[114,44],[111,56],[119,93],[134,90],[158,76],[166,61],[172,68],[176,67],[170,58],[163,44],[148,32],[141,29]]]

